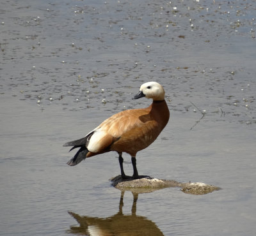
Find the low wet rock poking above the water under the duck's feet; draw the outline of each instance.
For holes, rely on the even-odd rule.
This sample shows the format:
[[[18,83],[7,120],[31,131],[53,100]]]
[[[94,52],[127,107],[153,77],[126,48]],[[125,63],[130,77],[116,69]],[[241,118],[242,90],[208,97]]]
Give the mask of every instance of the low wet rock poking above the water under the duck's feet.
[[[115,188],[121,191],[132,191],[133,193],[150,193],[158,189],[173,187],[179,187],[184,193],[192,195],[204,195],[220,190],[219,187],[202,182],[182,183],[167,179],[156,179],[147,175],[141,175],[140,179],[133,179],[131,176],[127,176],[127,179],[122,179],[121,175],[117,175],[110,181]]]

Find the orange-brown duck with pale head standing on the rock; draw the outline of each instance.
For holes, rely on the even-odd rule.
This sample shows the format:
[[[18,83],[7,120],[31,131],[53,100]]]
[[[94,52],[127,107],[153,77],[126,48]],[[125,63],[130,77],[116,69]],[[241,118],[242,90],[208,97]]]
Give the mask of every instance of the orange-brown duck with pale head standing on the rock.
[[[136,154],[148,147],[164,129],[169,121],[170,112],[164,100],[163,86],[157,82],[146,82],[132,98],[152,99],[147,108],[124,110],[112,115],[99,126],[90,131],[84,138],[65,143],[63,146],[79,148],[67,165],[74,166],[83,159],[109,151],[118,152],[118,160],[122,179],[127,179],[124,172],[122,153],[131,156],[133,179],[140,179],[136,167]]]

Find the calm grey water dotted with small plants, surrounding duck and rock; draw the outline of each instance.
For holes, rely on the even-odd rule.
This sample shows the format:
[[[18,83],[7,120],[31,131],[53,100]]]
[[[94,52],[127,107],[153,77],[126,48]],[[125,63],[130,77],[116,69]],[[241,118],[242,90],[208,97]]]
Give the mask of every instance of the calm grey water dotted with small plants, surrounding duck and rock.
[[[0,235],[254,235],[255,8],[1,1]],[[139,173],[221,191],[168,188],[137,201],[127,192],[123,201],[109,182],[120,172],[115,153],[66,165],[72,153],[62,145],[115,112],[146,107],[131,98],[150,80],[163,84],[171,119],[138,153]]]

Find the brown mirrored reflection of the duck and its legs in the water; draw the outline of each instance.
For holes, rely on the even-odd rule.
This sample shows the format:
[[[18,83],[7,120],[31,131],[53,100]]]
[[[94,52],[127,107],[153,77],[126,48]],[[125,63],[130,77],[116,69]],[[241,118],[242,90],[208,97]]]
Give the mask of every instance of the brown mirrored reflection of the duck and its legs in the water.
[[[138,193],[133,194],[131,215],[123,214],[124,191],[121,192],[119,210],[108,218],[93,218],[90,216],[79,216],[74,212],[68,212],[73,216],[79,226],[70,226],[70,233],[77,235],[163,235],[156,224],[143,216],[136,216],[136,203]]]

